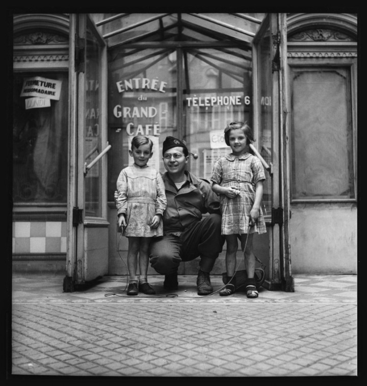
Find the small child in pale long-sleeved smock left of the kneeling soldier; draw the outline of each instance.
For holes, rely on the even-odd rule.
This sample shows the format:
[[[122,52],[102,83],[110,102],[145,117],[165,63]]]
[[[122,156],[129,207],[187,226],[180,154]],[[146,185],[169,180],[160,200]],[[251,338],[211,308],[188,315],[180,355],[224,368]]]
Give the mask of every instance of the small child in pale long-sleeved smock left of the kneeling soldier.
[[[148,247],[152,237],[163,236],[162,216],[167,206],[161,174],[147,165],[152,157],[151,139],[136,136],[132,140],[130,157],[134,164],[121,170],[117,178],[116,199],[118,225],[128,239],[127,295],[155,294],[148,284]],[[139,286],[137,278],[139,253]]]

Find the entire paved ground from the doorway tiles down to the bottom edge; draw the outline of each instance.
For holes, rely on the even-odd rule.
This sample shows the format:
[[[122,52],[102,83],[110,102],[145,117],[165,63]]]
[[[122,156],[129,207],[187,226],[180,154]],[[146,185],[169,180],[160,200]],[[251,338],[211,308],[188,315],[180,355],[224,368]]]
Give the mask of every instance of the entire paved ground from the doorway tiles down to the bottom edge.
[[[14,275],[11,376],[294,377],[357,375],[356,275],[294,275],[295,292],[126,296],[126,278],[62,292],[63,277]],[[212,277],[214,290],[223,285]],[[169,295],[169,296],[167,296]],[[171,297],[176,296],[177,297]],[[112,378],[109,378],[112,379]],[[349,382],[349,381],[348,381]]]

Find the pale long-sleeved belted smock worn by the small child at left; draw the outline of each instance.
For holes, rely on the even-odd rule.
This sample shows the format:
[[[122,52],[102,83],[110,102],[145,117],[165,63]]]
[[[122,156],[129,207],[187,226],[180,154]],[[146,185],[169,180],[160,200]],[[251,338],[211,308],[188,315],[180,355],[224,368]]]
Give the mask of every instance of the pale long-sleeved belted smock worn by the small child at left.
[[[162,220],[156,228],[150,223],[156,214],[161,214],[167,206],[165,187],[161,174],[154,168],[135,164],[121,170],[117,178],[117,215],[125,214],[126,237],[163,236]]]

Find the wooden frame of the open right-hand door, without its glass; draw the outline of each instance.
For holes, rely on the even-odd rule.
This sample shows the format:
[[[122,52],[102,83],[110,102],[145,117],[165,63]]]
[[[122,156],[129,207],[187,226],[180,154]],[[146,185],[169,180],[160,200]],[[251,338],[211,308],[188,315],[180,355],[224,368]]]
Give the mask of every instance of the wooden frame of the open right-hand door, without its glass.
[[[260,39],[269,31],[270,57],[272,61],[272,162],[270,175],[272,178],[272,214],[269,232],[269,277],[265,287],[269,290],[294,291],[291,273],[291,253],[289,242],[290,222],[290,189],[289,189],[289,134],[288,112],[289,98],[287,98],[287,40],[286,14],[268,13],[260,25],[253,39],[253,94],[254,94],[254,123],[257,135],[259,127],[259,98],[260,92],[257,74],[258,50]]]

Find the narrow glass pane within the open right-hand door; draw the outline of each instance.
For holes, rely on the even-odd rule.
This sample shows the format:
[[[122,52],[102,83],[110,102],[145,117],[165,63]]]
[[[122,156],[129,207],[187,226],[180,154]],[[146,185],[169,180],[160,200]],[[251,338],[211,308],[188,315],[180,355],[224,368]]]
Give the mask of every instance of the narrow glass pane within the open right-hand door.
[[[258,87],[259,94],[259,119],[258,119],[258,143],[255,143],[261,157],[269,165],[272,162],[272,69],[271,69],[271,36],[270,30],[261,37],[258,46]],[[263,201],[265,214],[271,215],[272,208],[272,181],[270,174],[265,171],[266,181],[263,184]]]

